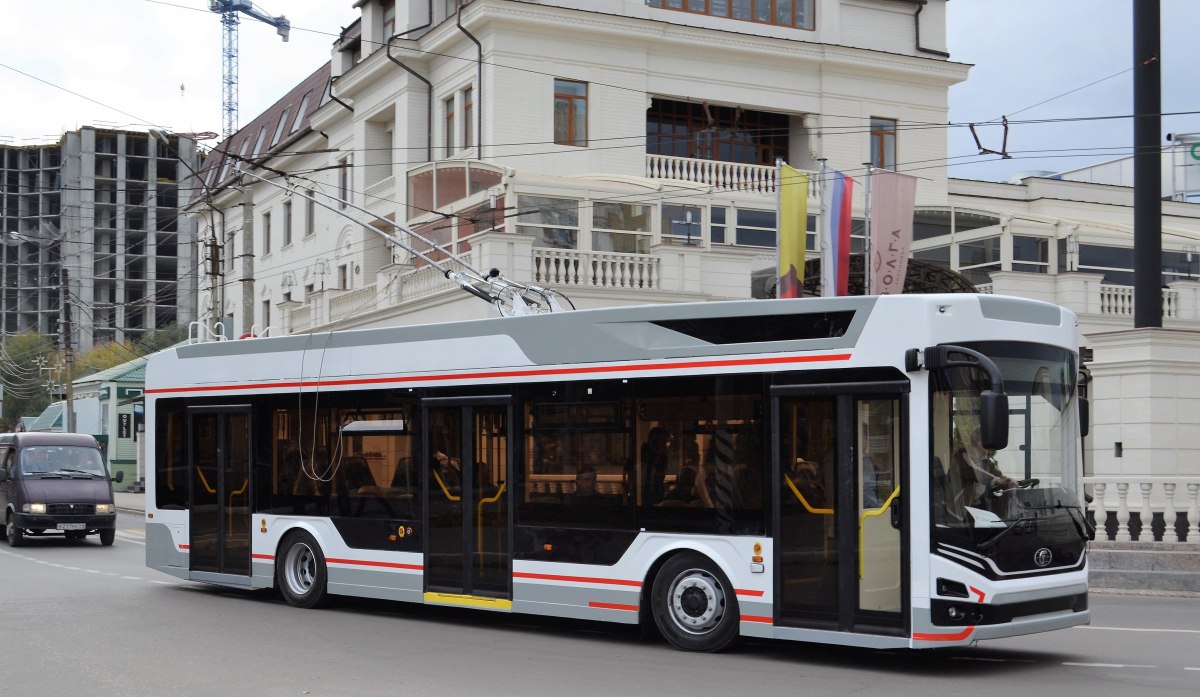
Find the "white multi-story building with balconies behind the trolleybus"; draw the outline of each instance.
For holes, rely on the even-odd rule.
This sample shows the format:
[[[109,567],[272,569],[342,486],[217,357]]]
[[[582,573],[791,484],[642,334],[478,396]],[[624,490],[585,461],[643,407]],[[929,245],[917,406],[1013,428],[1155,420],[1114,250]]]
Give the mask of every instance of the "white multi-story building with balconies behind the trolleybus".
[[[946,53],[944,0],[355,6],[330,64],[205,162],[191,208],[211,240],[199,306],[227,335],[493,312],[421,254],[499,269],[576,307],[766,296],[775,162],[814,182],[822,167],[859,176],[870,163],[919,175],[916,258],[1080,314],[1094,349],[1088,474],[1128,491],[1132,476],[1196,473],[1194,204],[1164,208],[1168,329],[1126,334],[1129,190],[947,178],[936,126],[968,66]],[[810,230],[817,215],[814,184]],[[457,259],[372,229],[392,223]],[[1156,510],[1169,515],[1163,491]],[[1106,495],[1115,507],[1116,487]]]

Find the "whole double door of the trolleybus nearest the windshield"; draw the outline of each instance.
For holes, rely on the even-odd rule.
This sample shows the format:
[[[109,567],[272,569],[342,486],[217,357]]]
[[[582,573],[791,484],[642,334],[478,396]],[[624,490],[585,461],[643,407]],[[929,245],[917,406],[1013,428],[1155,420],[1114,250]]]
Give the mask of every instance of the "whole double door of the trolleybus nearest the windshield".
[[[906,399],[887,384],[846,387],[774,395],[776,621],[901,633]]]

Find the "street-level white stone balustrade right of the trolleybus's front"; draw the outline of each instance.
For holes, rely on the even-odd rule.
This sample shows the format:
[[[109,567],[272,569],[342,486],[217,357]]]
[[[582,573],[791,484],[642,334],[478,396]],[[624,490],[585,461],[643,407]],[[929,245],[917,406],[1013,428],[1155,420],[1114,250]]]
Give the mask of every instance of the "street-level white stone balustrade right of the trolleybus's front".
[[[1097,540],[1200,541],[1200,476],[1088,476],[1084,485]]]

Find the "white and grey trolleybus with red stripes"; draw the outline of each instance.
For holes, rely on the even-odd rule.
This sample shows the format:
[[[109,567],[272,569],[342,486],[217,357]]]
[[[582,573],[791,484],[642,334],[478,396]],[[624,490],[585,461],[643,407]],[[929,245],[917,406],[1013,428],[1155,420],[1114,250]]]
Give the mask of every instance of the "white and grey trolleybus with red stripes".
[[[146,371],[146,564],[692,650],[1086,624],[1076,331],[956,294],[181,346]]]

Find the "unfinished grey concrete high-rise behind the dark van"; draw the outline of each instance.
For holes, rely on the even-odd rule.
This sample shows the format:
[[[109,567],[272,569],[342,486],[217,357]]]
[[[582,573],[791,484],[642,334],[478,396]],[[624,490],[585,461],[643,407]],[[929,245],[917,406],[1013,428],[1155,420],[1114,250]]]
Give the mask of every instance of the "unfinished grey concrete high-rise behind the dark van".
[[[194,320],[196,223],[179,205],[198,163],[186,137],[90,126],[0,145],[4,336],[58,336],[64,269],[77,349]]]

